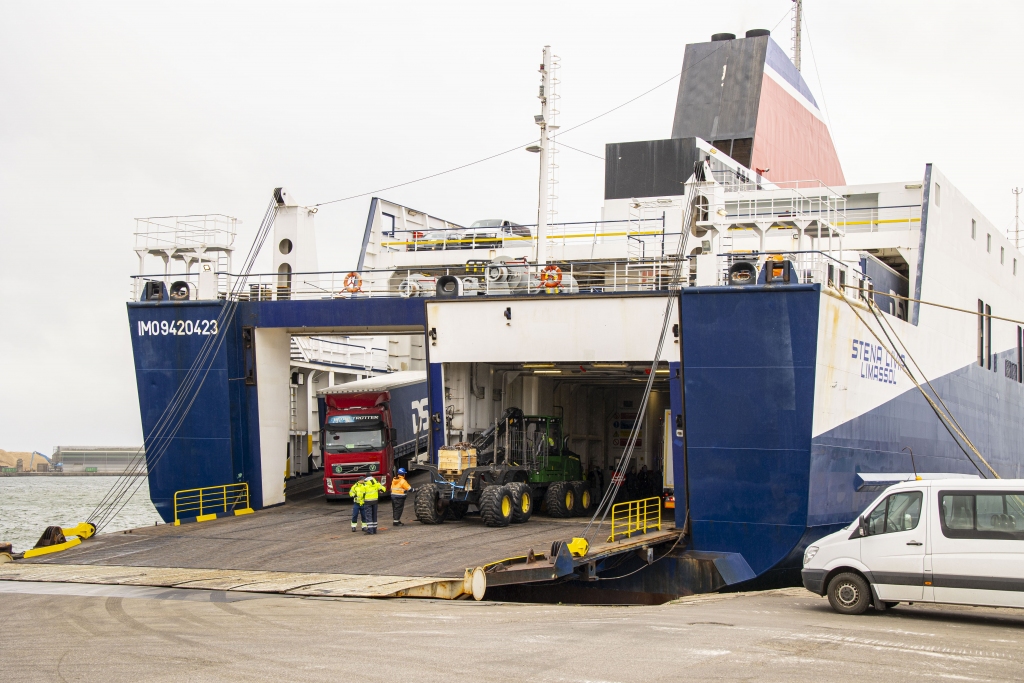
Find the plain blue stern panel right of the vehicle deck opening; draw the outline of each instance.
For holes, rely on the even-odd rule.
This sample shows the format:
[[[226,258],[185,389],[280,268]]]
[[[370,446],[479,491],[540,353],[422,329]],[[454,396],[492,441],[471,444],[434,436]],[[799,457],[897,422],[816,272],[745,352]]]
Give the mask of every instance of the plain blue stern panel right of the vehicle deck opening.
[[[684,290],[683,381],[693,548],[758,574],[807,525],[818,286]]]

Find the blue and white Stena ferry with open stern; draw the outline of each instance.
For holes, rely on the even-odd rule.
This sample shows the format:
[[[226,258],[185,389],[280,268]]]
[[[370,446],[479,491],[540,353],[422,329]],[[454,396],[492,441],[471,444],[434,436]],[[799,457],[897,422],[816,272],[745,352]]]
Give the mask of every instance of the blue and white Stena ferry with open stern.
[[[782,48],[717,34],[686,46],[671,136],[607,144],[600,219],[558,223],[556,66],[536,224],[374,198],[355,267],[321,270],[315,208],[279,189],[273,269],[251,274],[233,219],[140,222],[129,332],[166,520],[201,486],[287,503],[315,391],[401,370],[427,371],[424,462],[517,407],[560,416],[607,481],[640,420],[632,467],[671,471],[687,548],[728,557],[727,583],[799,583],[804,548],[890,483],[1021,476],[1024,257],[942,171],[847,184]]]

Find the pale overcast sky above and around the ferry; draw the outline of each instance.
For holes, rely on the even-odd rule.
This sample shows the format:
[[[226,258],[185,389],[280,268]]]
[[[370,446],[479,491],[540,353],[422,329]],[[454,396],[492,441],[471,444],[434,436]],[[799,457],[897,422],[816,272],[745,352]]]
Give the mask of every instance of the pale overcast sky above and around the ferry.
[[[712,33],[778,25],[788,51],[792,4],[0,1],[0,449],[141,442],[135,217],[236,216],[244,254],[274,186],[315,204],[531,140],[545,44],[567,128],[679,73],[685,44]],[[807,0],[805,13],[804,77],[847,181],[916,180],[933,162],[1012,225],[1024,3]],[[677,86],[564,141],[601,156],[668,137]],[[598,218],[602,162],[559,159],[559,220]],[[537,157],[383,196],[464,224],[534,222]],[[369,203],[316,215],[322,268],[354,265]]]

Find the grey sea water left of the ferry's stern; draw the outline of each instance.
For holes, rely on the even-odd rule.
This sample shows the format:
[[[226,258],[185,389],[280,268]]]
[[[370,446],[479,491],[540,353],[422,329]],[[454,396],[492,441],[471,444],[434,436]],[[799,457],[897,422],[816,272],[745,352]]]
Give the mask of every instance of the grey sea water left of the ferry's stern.
[[[86,521],[117,481],[116,476],[0,477],[0,542],[22,552],[35,546],[47,526]],[[136,484],[138,490],[102,533],[164,523],[150,502],[148,480],[133,477],[131,489]]]

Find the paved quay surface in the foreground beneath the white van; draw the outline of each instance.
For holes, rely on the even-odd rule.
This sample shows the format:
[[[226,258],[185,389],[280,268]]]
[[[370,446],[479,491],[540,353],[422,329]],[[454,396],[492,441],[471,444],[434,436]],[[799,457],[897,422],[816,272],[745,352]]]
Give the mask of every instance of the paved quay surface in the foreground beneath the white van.
[[[1024,610],[843,616],[802,589],[624,607],[0,582],[0,610],[10,681],[1024,678]]]

